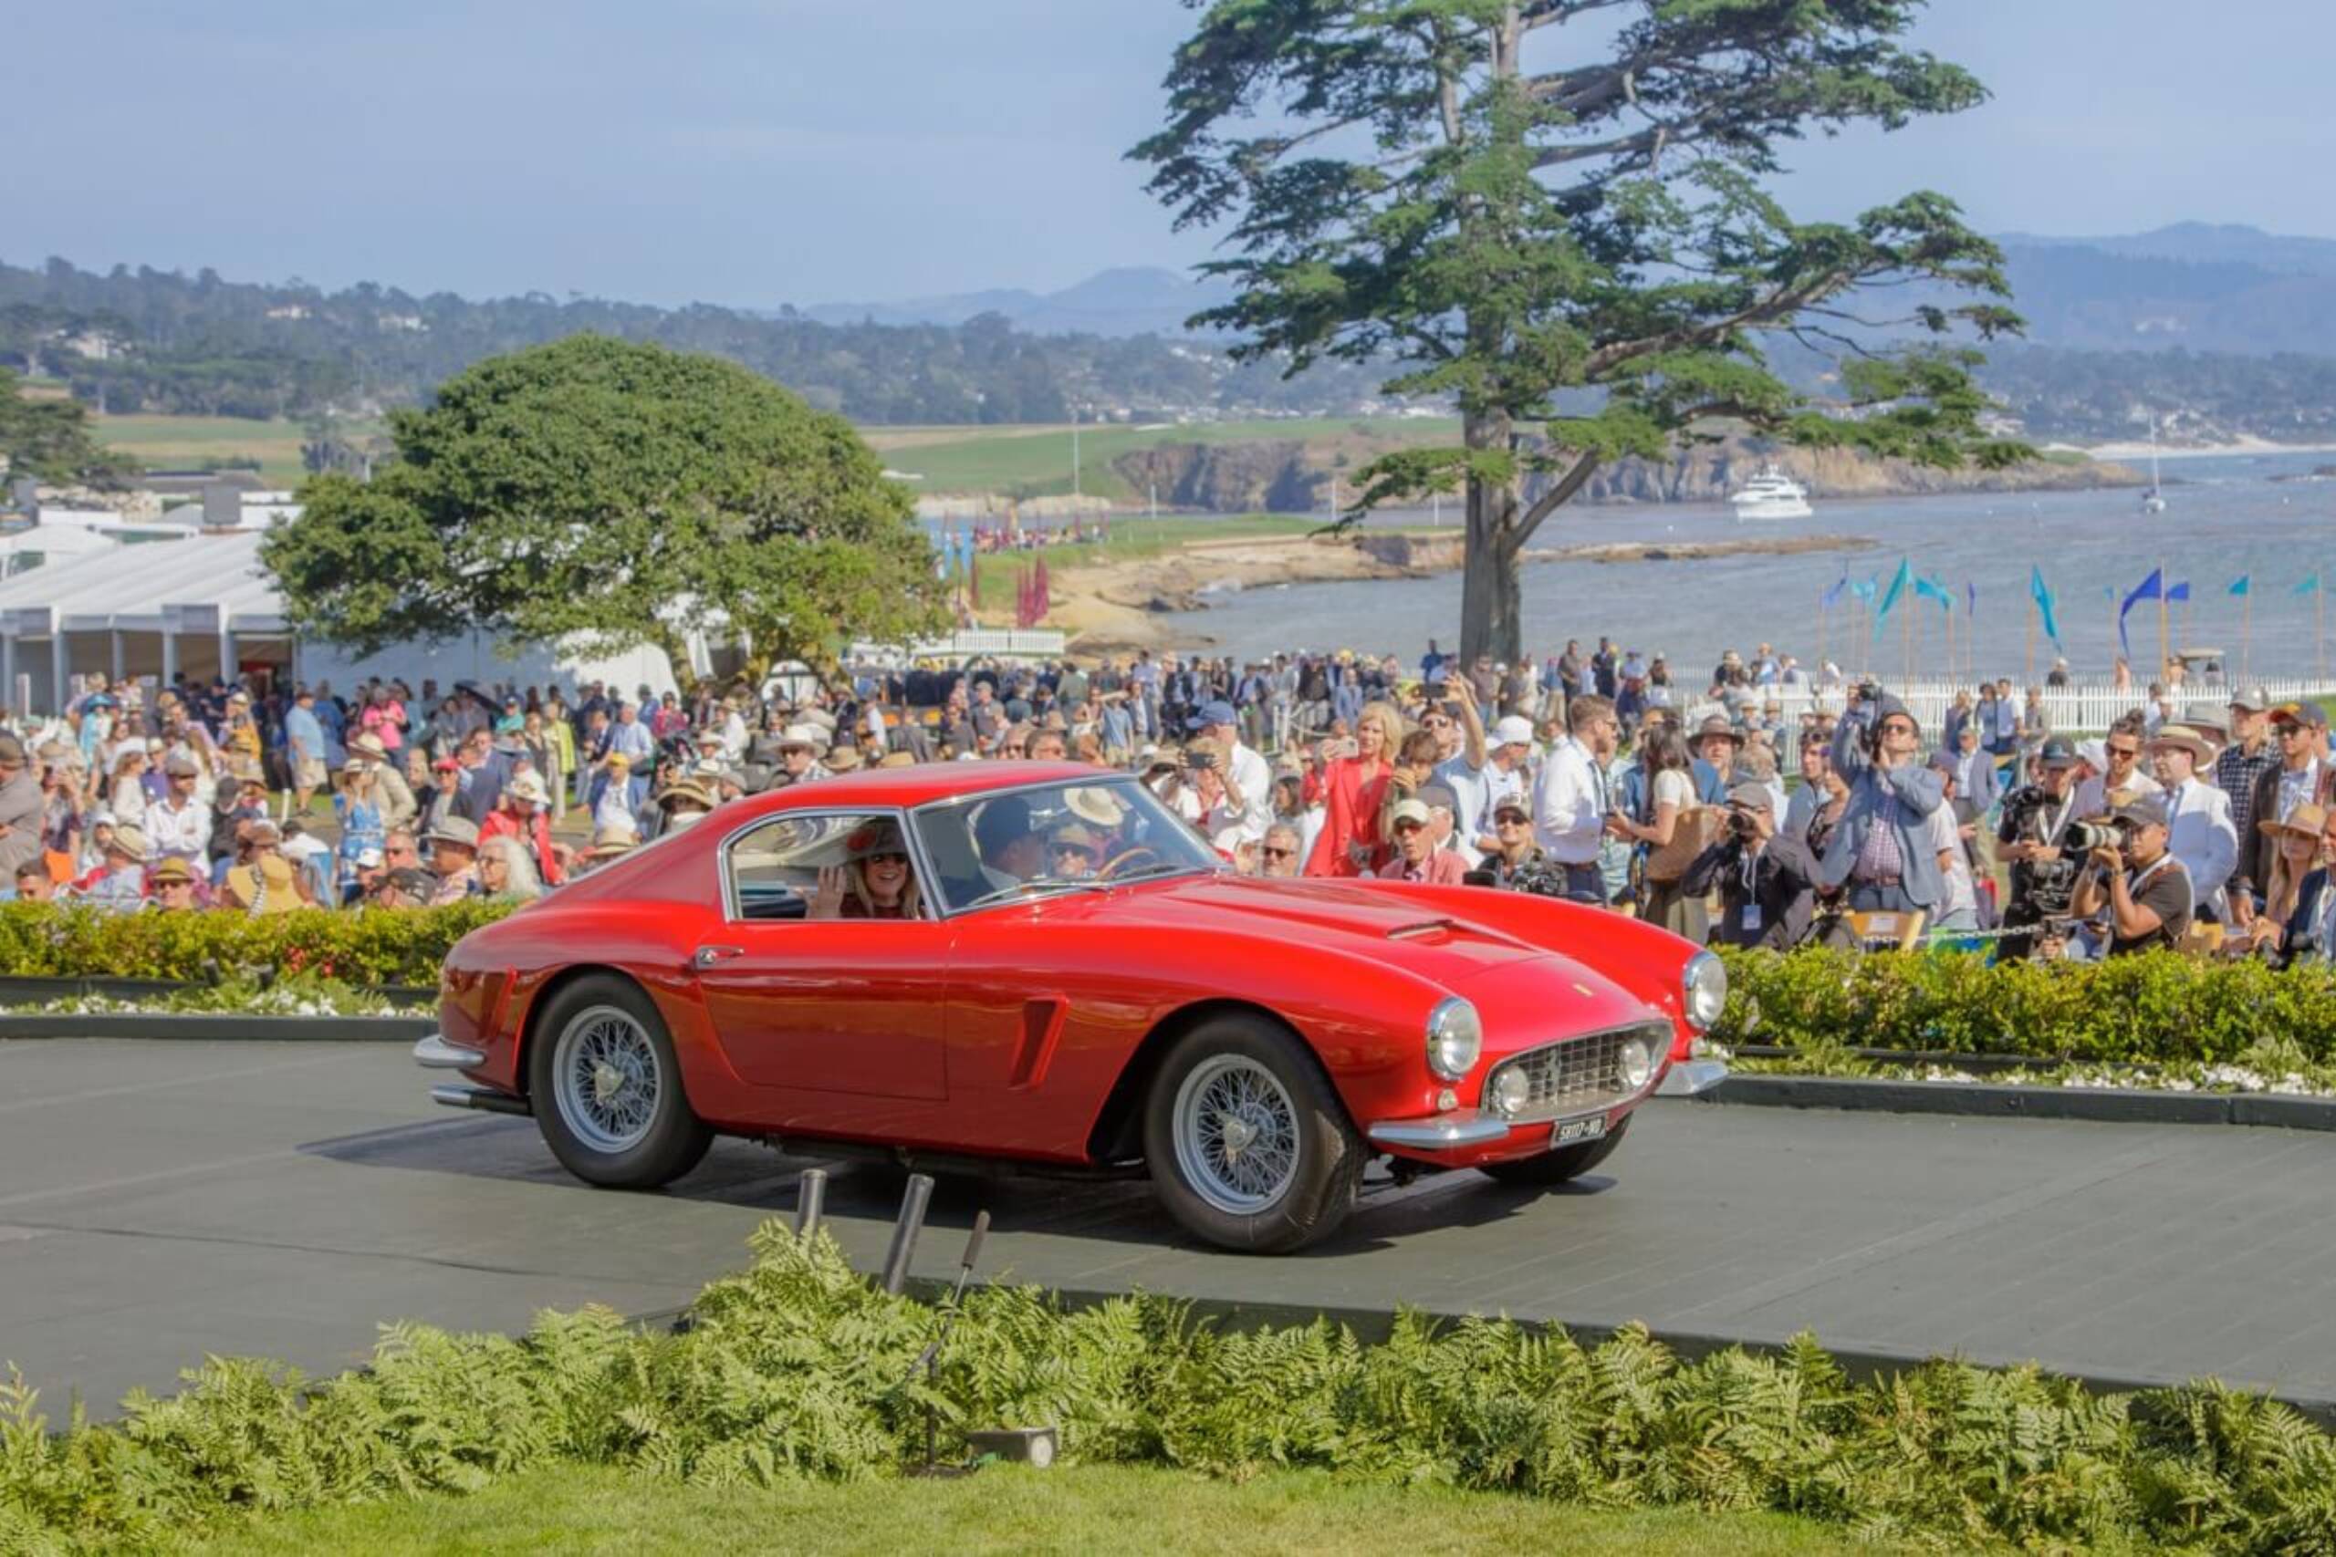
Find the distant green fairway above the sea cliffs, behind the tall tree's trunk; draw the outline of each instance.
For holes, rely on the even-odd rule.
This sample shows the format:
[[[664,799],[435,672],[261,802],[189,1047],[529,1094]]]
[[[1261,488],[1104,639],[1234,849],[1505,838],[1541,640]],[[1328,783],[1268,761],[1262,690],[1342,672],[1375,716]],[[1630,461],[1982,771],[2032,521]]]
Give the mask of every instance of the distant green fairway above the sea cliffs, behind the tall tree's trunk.
[[[1072,490],[1070,481],[1070,427],[997,427],[967,432],[958,441],[932,441],[939,430],[913,430],[890,448],[881,441],[885,430],[862,430],[878,439],[885,462],[897,472],[920,476],[920,493],[1000,493],[1007,497],[1061,497]],[[906,434],[909,430],[899,430]],[[1376,451],[1411,444],[1448,441],[1458,423],[1444,418],[1292,418],[1292,420],[1245,420],[1245,423],[1191,423],[1156,427],[1098,425],[1079,430],[1079,490],[1089,497],[1117,502],[1140,502],[1138,493],[1117,469],[1114,460],[1161,444],[1271,444],[1301,441],[1334,446],[1353,453],[1360,469]]]

